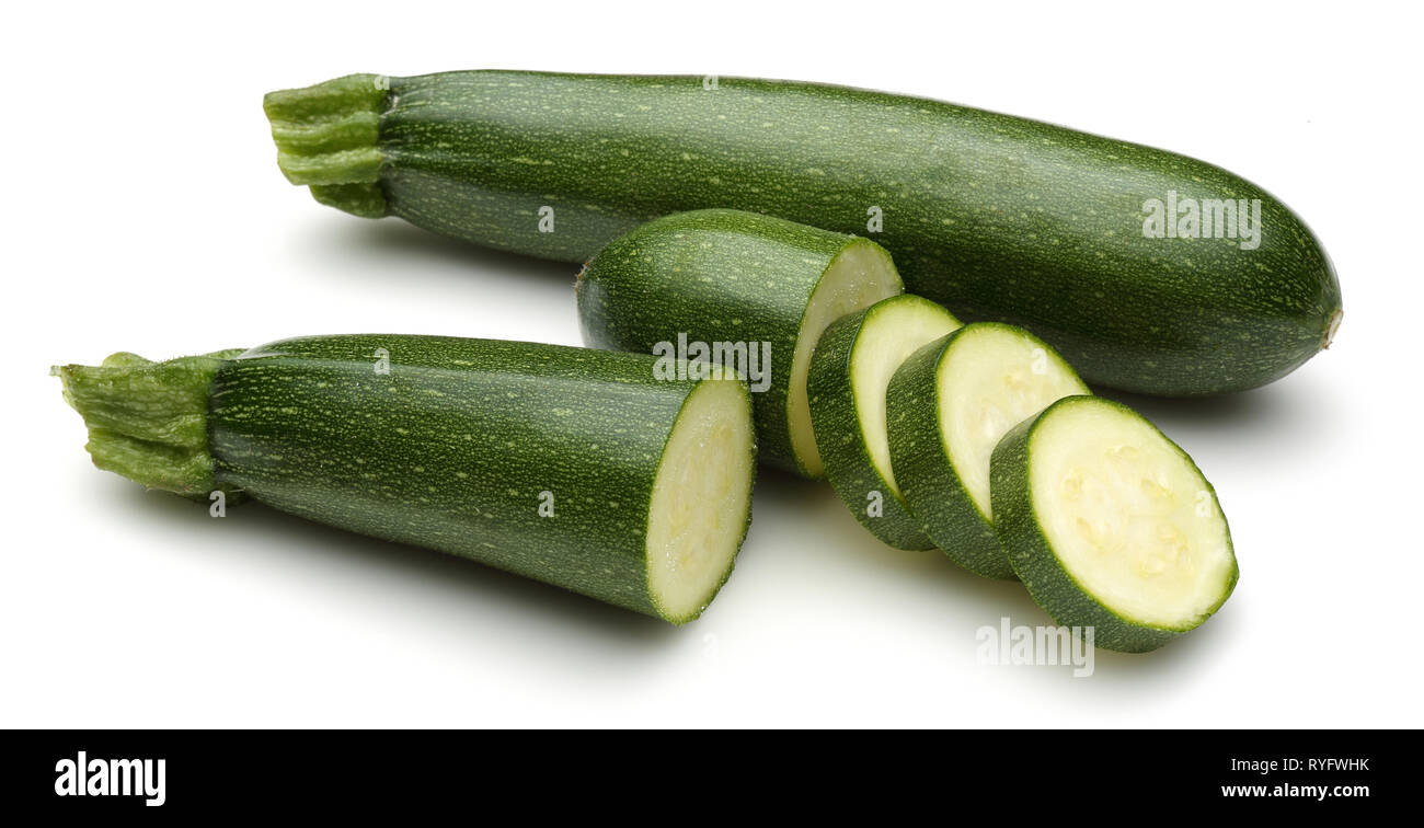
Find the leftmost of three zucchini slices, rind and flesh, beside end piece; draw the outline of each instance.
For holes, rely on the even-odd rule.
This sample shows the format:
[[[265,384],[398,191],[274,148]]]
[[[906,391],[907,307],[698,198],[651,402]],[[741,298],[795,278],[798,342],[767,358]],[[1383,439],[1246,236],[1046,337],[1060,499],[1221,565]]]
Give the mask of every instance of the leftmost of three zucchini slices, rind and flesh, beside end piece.
[[[899,549],[930,549],[933,542],[890,465],[886,388],[906,357],[957,327],[928,299],[891,296],[830,323],[810,357],[810,418],[826,477],[860,524]]]

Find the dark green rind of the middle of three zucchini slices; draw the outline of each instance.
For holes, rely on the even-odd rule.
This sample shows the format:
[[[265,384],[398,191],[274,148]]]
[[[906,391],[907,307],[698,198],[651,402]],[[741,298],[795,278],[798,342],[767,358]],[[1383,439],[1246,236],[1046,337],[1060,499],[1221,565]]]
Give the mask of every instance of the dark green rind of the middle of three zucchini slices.
[[[998,535],[954,474],[940,434],[940,357],[964,330],[968,329],[926,344],[890,378],[886,391],[890,467],[910,514],[936,546],[975,575],[1012,580],[1017,576]]]

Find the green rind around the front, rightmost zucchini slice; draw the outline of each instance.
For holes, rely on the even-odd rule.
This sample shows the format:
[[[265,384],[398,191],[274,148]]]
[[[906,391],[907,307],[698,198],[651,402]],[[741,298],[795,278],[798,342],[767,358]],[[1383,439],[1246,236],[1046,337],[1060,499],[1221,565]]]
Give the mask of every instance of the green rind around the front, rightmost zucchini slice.
[[[990,501],[994,506],[994,526],[998,531],[1000,542],[1008,553],[1008,561],[1018,573],[1018,579],[1028,588],[1028,593],[1052,619],[1061,626],[1091,626],[1094,627],[1094,644],[1108,650],[1124,653],[1145,653],[1155,650],[1176,636],[1190,632],[1210,617],[1236,588],[1239,569],[1236,568],[1235,549],[1232,548],[1230,532],[1226,534],[1227,549],[1232,552],[1232,576],[1220,600],[1195,625],[1185,627],[1162,627],[1134,622],[1118,615],[1088,593],[1062,568],[1054,553],[1048,538],[1044,536],[1034,512],[1032,495],[1030,491],[1030,455],[1035,428],[1045,418],[1052,417],[1067,405],[1111,405],[1121,410],[1128,417],[1141,418],[1121,403],[1104,400],[1102,397],[1064,397],[1052,405],[1044,408],[1037,417],[1031,417],[1015,425],[994,448],[990,461]],[[1163,435],[1165,438],[1165,435]],[[1173,444],[1175,447],[1175,444]],[[1180,448],[1176,450],[1182,460],[1192,464],[1200,474],[1192,458]],[[1206,489],[1216,501],[1216,489],[1202,478]],[[1220,508],[1218,506],[1218,511]],[[1222,515],[1226,521],[1226,515]]]

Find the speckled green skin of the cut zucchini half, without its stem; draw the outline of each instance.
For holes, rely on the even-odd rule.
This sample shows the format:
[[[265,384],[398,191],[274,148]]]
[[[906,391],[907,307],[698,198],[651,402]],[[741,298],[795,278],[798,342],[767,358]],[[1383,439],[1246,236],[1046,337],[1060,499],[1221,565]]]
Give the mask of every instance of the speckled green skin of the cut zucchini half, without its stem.
[[[645,535],[664,444],[696,383],[654,380],[652,361],[447,337],[272,343],[218,368],[215,477],[283,512],[682,623],[649,593]],[[538,514],[545,491],[551,518]]]

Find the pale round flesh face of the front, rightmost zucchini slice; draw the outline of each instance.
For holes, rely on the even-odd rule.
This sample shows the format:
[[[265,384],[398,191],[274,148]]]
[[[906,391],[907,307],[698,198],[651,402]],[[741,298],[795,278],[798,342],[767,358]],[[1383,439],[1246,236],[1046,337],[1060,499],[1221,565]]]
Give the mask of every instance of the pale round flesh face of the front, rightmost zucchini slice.
[[[1148,421],[1111,404],[1055,408],[1030,447],[1034,514],[1064,570],[1135,623],[1200,623],[1235,558],[1210,485]]]

